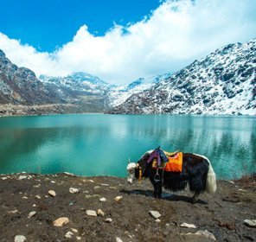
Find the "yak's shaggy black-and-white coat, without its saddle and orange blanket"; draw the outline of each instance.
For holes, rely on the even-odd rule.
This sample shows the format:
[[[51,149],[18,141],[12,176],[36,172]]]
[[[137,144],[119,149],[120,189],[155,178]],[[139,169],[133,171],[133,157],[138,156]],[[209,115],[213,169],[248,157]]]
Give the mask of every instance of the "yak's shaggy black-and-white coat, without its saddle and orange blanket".
[[[194,192],[193,201],[198,200],[199,194],[203,191],[214,193],[216,191],[216,175],[209,160],[205,156],[200,156],[192,153],[183,153],[182,172],[167,172],[163,169],[152,169],[152,162],[147,162],[150,156],[150,151],[137,162],[130,164],[134,173],[133,178],[139,176],[139,169],[142,170],[143,177],[150,178],[150,182],[154,186],[154,196],[161,198],[162,187],[170,189],[170,191],[183,190],[189,185],[190,191]],[[132,179],[130,180],[130,183]]]

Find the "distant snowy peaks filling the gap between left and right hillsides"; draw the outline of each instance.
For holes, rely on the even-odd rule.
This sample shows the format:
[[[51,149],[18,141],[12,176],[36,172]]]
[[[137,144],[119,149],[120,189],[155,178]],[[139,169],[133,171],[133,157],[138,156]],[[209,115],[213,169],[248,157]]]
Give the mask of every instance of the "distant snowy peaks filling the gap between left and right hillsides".
[[[105,107],[112,108],[125,102],[131,95],[143,92],[151,86],[156,85],[159,81],[170,77],[170,73],[150,77],[147,79],[140,78],[128,85],[114,86],[100,80],[99,77],[89,73],[72,73],[66,77],[53,77],[41,75],[40,80],[46,86],[54,86],[63,99],[67,99],[68,94],[76,93],[76,96],[97,95],[105,99]],[[76,99],[71,95],[72,99]],[[72,100],[70,100],[72,101]]]

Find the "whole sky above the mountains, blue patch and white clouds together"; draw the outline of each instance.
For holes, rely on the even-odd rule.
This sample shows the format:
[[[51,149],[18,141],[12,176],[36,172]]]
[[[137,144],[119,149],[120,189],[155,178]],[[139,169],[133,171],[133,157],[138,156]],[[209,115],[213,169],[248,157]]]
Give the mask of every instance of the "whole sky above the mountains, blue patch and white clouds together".
[[[18,67],[112,84],[256,37],[255,0],[0,0],[0,10],[0,49]]]

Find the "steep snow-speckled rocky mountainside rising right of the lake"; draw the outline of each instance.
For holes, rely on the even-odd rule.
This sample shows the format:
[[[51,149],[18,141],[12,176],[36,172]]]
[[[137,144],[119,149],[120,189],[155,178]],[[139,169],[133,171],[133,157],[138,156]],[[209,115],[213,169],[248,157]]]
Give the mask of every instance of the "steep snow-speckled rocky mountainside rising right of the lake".
[[[255,115],[255,43],[219,48],[110,112]]]

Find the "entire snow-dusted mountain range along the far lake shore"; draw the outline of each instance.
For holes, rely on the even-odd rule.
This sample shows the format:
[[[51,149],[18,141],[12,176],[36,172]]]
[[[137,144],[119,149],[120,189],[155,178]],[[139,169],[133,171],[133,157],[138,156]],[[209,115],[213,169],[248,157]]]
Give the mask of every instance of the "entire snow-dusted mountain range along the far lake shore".
[[[256,114],[256,40],[230,44],[177,73],[114,86],[89,73],[50,77],[16,67],[0,50],[0,115],[65,112]],[[58,105],[51,109],[45,105]],[[68,108],[67,108],[68,107]],[[26,109],[20,114],[28,114]]]

